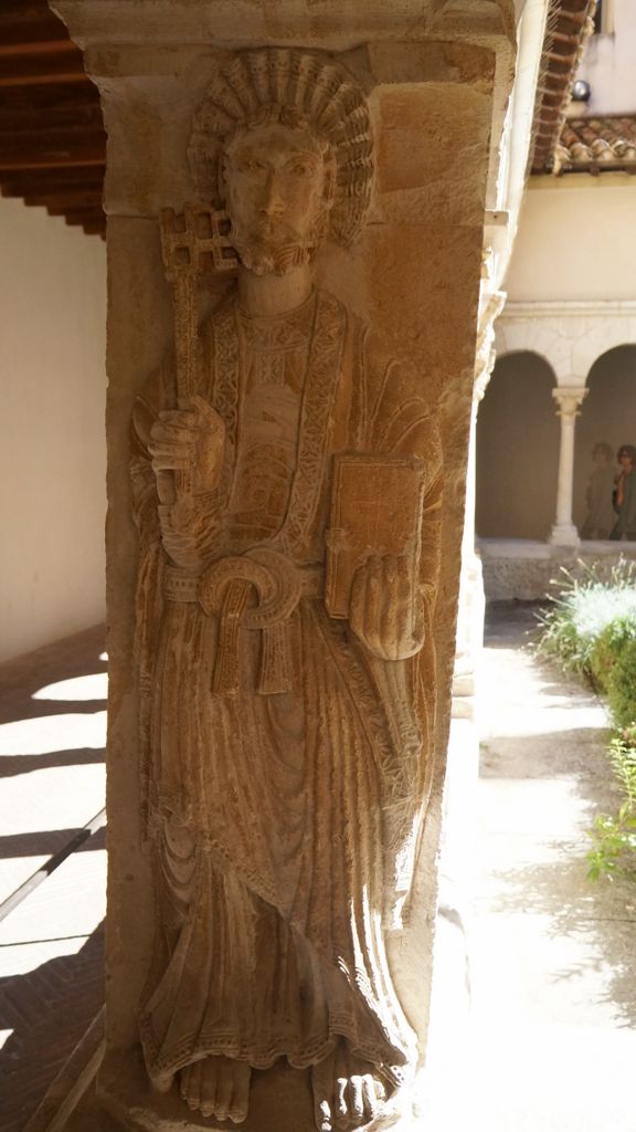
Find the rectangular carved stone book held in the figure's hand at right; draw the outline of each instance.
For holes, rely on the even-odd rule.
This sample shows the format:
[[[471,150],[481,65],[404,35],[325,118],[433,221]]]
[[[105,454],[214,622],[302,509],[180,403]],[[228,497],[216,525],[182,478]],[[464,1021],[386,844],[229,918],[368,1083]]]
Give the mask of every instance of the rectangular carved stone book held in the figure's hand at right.
[[[349,616],[355,571],[372,555],[405,557],[418,576],[424,463],[415,456],[344,453],[334,457],[325,601]]]

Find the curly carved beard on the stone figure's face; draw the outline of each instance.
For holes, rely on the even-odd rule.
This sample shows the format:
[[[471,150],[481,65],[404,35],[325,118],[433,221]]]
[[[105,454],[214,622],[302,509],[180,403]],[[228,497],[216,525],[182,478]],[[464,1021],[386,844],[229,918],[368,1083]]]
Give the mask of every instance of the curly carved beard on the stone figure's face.
[[[300,235],[283,220],[266,220],[243,228],[232,221],[232,247],[255,275],[285,275],[292,267],[310,264],[327,230],[327,209],[321,211],[309,235]]]

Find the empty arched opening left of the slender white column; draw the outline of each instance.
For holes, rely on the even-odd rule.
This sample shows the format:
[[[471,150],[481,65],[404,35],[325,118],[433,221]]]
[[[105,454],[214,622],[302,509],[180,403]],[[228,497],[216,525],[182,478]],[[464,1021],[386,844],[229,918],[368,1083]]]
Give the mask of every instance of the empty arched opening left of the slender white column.
[[[539,354],[497,359],[476,430],[475,525],[482,538],[548,538],[559,462],[555,385]]]

